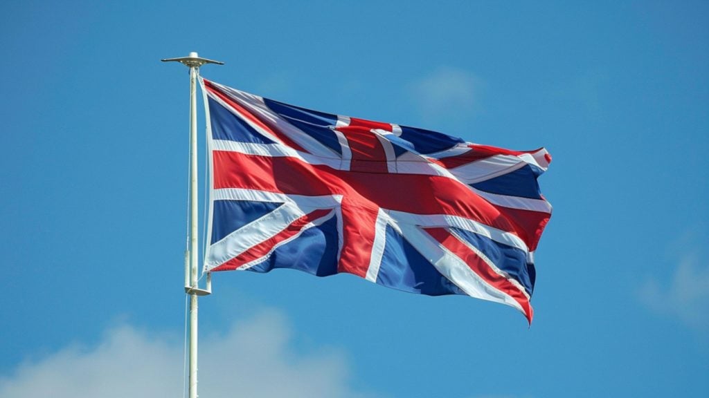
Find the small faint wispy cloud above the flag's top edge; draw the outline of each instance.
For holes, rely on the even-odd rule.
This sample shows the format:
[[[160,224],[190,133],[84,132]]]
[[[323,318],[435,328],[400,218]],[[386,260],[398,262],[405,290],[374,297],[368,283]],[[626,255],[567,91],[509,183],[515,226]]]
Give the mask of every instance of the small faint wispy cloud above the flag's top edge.
[[[479,79],[470,72],[440,67],[409,86],[425,118],[460,118],[476,108]]]

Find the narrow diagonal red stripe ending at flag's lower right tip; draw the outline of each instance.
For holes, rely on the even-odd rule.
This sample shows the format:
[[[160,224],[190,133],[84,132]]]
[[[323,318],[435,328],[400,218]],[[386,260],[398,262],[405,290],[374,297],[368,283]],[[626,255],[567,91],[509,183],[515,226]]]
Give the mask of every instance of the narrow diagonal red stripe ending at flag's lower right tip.
[[[530,322],[530,324],[532,323],[534,311],[523,290],[520,290],[517,285],[493,270],[475,251],[470,249],[467,244],[464,244],[460,239],[454,237],[447,229],[425,228],[424,230],[428,232],[433,239],[436,239],[448,249],[448,251],[461,258],[469,266],[471,271],[479,275],[486,283],[496,290],[512,297],[515,302],[518,302],[523,309],[525,317],[527,317],[527,321]]]

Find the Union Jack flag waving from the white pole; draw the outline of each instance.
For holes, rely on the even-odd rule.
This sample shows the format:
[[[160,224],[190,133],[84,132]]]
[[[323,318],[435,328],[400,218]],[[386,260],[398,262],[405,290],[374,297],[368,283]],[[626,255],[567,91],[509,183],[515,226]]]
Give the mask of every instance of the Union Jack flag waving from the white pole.
[[[351,273],[532,320],[533,252],[552,207],[545,149],[269,100],[203,79],[211,154],[205,271]]]

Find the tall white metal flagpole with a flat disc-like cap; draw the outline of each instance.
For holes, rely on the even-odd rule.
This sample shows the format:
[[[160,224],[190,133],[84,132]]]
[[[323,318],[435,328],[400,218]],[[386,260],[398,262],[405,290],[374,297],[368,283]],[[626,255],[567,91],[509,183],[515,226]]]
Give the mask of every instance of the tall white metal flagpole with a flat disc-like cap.
[[[223,62],[200,58],[196,52],[190,52],[187,57],[162,59],[163,62],[180,62],[189,67],[189,261],[185,261],[184,290],[189,297],[189,398],[197,398],[197,297],[208,295],[211,291],[203,290],[198,285],[198,224],[199,209],[197,199],[197,79],[199,67],[203,64],[219,64]],[[189,278],[188,278],[189,276]]]

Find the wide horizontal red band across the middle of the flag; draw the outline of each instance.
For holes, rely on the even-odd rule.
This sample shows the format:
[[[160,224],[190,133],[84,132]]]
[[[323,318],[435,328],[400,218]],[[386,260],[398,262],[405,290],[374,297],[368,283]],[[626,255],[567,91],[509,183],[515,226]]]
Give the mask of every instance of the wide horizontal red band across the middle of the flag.
[[[213,152],[214,188],[246,188],[293,195],[343,195],[353,206],[420,215],[455,215],[510,232],[533,246],[539,226],[508,220],[499,209],[452,178],[374,174],[313,166],[294,157]],[[529,230],[524,228],[530,228]]]

